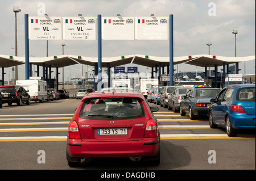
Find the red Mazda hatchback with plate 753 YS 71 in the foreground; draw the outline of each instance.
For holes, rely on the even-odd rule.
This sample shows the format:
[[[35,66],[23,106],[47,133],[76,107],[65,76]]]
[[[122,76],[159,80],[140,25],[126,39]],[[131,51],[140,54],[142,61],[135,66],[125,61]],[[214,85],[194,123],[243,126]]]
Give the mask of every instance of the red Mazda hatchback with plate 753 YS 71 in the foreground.
[[[67,160],[70,167],[85,157],[147,157],[160,163],[158,121],[142,94],[94,92],[82,99],[69,123]]]

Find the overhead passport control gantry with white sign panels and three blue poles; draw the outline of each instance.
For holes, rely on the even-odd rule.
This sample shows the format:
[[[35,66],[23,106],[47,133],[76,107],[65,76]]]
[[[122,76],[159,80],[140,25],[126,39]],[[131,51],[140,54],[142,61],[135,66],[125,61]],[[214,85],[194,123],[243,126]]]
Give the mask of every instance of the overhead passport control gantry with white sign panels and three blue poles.
[[[170,85],[173,85],[173,23],[166,17],[59,17],[25,14],[26,79],[29,78],[28,40],[98,40],[98,80],[101,82],[101,40],[168,40]],[[169,22],[170,21],[170,22]],[[159,71],[160,73],[160,71]],[[101,89],[101,88],[100,88]]]

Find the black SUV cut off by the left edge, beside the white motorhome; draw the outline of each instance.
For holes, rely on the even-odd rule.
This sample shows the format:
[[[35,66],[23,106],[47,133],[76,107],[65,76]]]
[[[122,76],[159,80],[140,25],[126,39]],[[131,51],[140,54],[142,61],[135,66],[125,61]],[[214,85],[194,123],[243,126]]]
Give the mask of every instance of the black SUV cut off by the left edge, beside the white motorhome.
[[[23,102],[30,104],[30,95],[22,86],[0,86],[0,94],[2,104],[8,103],[9,106],[13,103],[22,106]]]

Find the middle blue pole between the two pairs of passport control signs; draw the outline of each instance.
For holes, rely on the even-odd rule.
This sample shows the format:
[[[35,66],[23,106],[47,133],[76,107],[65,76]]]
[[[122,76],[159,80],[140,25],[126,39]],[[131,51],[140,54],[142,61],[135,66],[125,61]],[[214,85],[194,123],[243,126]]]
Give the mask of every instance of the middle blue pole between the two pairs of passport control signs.
[[[101,91],[101,85],[102,85],[102,65],[101,65],[101,59],[102,59],[102,54],[101,54],[101,15],[98,15],[98,86],[97,86],[97,91]]]

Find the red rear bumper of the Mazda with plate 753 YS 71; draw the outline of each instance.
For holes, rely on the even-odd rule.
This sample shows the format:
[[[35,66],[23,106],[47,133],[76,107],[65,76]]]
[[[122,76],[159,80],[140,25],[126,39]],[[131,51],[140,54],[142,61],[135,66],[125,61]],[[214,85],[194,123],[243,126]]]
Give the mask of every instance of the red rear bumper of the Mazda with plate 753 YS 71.
[[[133,157],[154,156],[160,148],[160,138],[144,138],[139,141],[82,141],[67,140],[70,157]]]

